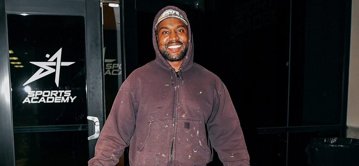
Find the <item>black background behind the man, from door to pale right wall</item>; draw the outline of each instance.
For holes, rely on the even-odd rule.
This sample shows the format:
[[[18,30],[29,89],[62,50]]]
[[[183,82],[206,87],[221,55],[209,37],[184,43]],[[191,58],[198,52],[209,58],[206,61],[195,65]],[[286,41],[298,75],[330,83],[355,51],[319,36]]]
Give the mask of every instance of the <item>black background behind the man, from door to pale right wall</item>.
[[[155,59],[152,24],[184,10],[194,62],[226,84],[252,166],[306,166],[311,138],[345,137],[351,0],[123,1],[125,76]],[[349,35],[348,35],[349,34]],[[222,165],[218,157],[209,166]]]

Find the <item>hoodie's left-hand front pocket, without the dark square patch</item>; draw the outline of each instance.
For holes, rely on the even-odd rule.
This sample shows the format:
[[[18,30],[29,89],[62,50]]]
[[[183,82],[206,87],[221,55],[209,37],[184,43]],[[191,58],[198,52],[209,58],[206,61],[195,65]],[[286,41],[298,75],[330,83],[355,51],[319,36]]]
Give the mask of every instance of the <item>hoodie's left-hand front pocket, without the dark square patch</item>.
[[[143,146],[137,150],[135,166],[168,165],[172,124],[172,118],[149,121],[146,139],[141,142]]]

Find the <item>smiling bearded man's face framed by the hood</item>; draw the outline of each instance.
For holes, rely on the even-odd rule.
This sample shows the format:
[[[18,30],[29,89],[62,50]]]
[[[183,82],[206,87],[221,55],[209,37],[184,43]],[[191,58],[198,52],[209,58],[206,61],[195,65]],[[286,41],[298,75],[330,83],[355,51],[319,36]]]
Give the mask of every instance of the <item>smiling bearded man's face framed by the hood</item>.
[[[164,19],[158,24],[157,45],[163,58],[170,61],[180,61],[188,49],[187,25],[176,18]]]

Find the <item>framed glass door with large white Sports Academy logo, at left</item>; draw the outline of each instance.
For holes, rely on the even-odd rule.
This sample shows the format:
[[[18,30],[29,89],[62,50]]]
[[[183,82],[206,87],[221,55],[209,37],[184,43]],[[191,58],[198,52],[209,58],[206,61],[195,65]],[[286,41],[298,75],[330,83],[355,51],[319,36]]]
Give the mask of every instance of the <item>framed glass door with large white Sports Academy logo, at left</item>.
[[[87,165],[104,122],[100,1],[5,0],[1,16],[10,82],[1,114],[11,115],[14,147],[7,165]]]

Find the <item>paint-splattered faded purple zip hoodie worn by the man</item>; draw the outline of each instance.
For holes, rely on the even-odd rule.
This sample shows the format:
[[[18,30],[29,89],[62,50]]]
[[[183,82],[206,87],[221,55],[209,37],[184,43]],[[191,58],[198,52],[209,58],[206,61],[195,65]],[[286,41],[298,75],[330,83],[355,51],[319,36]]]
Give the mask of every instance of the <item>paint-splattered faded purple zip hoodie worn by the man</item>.
[[[157,46],[155,24],[167,9],[188,23],[188,51],[178,75]],[[89,166],[113,166],[130,146],[130,166],[205,166],[213,148],[224,165],[248,166],[243,133],[227,88],[193,62],[193,38],[186,14],[174,6],[153,22],[156,59],[123,82],[104,124]]]

